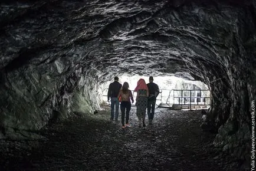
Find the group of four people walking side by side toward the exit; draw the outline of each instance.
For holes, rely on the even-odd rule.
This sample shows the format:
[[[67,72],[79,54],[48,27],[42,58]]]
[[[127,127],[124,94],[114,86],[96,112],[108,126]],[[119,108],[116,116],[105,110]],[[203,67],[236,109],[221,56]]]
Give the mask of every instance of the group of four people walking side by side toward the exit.
[[[139,119],[139,127],[145,127],[146,109],[149,118],[149,124],[152,124],[152,120],[155,114],[156,97],[159,94],[159,87],[153,83],[153,77],[149,77],[149,83],[146,84],[144,79],[140,79],[137,82],[137,86],[134,89],[137,93],[136,97],[136,114]],[[124,82],[123,85],[119,83],[119,78],[114,77],[114,82],[110,83],[109,91],[107,93],[107,101],[111,100],[111,120],[118,120],[119,116],[119,102],[122,113],[122,128],[129,126],[129,114],[132,107],[133,94],[129,90],[129,84]],[[132,101],[132,103],[131,103]],[[114,108],[116,111],[114,112]],[[126,115],[126,121],[124,124],[124,115]]]

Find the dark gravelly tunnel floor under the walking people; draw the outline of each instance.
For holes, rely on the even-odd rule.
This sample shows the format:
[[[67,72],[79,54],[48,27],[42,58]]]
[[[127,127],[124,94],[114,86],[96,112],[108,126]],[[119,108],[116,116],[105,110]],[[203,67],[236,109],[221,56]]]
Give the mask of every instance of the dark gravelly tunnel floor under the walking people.
[[[215,134],[200,128],[201,111],[156,108],[153,125],[110,121],[110,110],[59,121],[42,130],[47,140],[1,141],[1,170],[239,170],[219,153]],[[146,117],[147,118],[147,117]],[[146,120],[147,121],[147,120]]]

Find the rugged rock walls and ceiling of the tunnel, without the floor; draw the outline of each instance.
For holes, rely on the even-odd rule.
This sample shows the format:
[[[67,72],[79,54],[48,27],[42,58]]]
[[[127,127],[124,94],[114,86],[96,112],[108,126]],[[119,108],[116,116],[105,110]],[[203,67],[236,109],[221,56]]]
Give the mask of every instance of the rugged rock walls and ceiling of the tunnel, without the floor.
[[[54,117],[100,110],[114,76],[171,76],[211,91],[214,144],[250,160],[255,1],[3,1],[0,138],[40,139]]]

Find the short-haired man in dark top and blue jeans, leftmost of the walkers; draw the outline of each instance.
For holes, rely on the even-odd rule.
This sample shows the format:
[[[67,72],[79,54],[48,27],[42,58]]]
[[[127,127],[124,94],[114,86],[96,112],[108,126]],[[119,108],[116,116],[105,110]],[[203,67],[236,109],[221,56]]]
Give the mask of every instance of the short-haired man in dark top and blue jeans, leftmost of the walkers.
[[[111,120],[118,120],[119,116],[119,100],[117,98],[122,84],[118,82],[119,78],[114,77],[114,82],[109,84],[109,91],[107,91],[107,101],[111,100]],[[114,113],[114,106],[116,106],[116,112]]]

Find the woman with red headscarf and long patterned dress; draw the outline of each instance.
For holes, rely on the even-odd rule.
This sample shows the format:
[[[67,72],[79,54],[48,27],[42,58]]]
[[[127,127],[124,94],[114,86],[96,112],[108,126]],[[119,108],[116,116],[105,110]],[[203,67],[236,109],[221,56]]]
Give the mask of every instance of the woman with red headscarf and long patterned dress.
[[[146,117],[146,108],[147,108],[147,97],[149,96],[149,88],[147,88],[147,84],[144,79],[140,79],[137,82],[137,87],[134,90],[137,92],[137,97],[136,97],[136,114],[139,119],[139,127],[142,126],[143,122],[143,127],[146,126],[145,124],[145,117]]]

